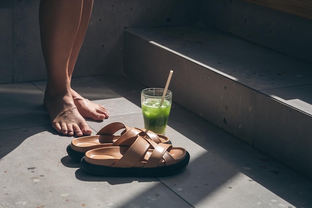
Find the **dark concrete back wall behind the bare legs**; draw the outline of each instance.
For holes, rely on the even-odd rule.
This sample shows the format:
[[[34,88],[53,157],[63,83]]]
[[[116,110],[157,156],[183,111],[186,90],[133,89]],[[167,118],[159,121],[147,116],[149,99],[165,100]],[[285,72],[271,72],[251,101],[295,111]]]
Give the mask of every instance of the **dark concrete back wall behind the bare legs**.
[[[0,83],[46,79],[39,1],[0,1]],[[193,24],[197,14],[192,0],[95,0],[74,76],[121,73],[124,28]]]

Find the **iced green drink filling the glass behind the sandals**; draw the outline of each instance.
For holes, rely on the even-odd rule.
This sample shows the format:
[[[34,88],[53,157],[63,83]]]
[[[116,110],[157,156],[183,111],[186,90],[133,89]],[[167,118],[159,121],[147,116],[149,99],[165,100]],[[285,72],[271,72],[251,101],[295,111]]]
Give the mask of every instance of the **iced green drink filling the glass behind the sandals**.
[[[142,104],[145,128],[156,134],[164,134],[168,122],[171,104],[164,100],[159,107],[160,99],[147,99]]]

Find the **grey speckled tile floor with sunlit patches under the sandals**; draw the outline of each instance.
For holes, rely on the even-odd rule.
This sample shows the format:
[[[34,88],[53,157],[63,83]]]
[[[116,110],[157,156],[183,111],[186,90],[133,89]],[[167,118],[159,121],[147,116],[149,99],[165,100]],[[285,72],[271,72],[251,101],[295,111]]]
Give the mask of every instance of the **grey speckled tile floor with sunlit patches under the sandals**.
[[[122,76],[74,78],[81,95],[110,110],[88,121],[143,127],[140,91]],[[190,153],[178,175],[91,176],[72,161],[42,99],[45,81],[0,85],[0,208],[312,208],[312,180],[174,104],[166,135]],[[173,92],[174,102],[174,92]],[[310,165],[310,164],[307,164]]]

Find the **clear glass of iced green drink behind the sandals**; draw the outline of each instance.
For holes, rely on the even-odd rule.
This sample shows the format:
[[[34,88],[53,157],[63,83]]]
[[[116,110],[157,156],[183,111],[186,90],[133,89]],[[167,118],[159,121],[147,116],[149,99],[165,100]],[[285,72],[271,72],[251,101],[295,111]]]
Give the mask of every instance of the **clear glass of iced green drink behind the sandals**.
[[[172,92],[167,90],[163,103],[159,106],[163,91],[163,88],[148,88],[141,92],[144,127],[156,134],[162,135],[164,135],[166,131],[172,103]]]

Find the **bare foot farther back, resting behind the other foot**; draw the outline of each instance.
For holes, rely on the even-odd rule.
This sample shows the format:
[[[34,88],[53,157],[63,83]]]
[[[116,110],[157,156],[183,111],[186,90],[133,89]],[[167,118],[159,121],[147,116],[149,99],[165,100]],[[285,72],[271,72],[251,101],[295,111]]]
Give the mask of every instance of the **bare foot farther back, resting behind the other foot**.
[[[83,98],[73,89],[71,90],[71,95],[82,117],[90,118],[95,121],[103,121],[103,119],[110,116],[110,113],[103,105],[96,104],[88,99]]]

